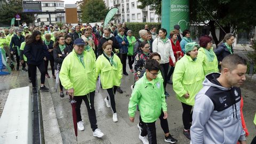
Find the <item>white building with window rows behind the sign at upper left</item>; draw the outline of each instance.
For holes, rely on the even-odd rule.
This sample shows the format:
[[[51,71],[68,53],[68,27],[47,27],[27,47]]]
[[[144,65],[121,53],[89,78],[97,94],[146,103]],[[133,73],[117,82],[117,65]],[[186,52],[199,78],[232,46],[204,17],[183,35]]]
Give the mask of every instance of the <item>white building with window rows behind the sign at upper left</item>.
[[[64,1],[61,1],[61,0],[40,0],[40,1],[42,5],[42,12],[65,11]],[[36,15],[35,25],[41,25],[42,22],[44,22],[45,25],[50,25],[56,22],[65,23],[65,13],[51,14],[51,23],[49,19],[49,14]]]

